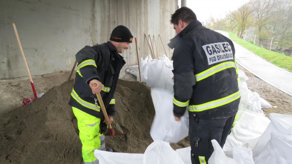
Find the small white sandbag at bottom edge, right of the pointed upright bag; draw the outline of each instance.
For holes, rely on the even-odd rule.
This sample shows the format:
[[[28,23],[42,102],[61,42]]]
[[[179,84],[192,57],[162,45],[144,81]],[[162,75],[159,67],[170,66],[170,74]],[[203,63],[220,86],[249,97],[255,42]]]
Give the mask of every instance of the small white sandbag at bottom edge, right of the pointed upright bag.
[[[254,164],[251,149],[235,146],[233,148],[233,159],[238,164]]]

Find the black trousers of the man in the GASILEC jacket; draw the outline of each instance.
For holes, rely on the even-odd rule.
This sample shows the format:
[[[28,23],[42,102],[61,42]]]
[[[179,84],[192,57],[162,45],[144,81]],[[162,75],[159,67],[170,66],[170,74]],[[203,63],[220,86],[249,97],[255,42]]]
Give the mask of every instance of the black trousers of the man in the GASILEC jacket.
[[[230,133],[235,115],[228,118],[204,119],[189,115],[189,136],[192,164],[208,164],[214,149],[211,143],[215,139],[223,148]]]

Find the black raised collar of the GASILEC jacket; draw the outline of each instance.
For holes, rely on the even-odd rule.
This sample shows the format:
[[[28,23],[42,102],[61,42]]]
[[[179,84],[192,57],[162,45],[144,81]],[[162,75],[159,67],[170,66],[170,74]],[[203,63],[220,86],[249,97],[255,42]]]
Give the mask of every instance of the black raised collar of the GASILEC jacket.
[[[201,25],[202,25],[202,23],[198,20],[192,21],[179,34],[177,34],[174,38],[170,39],[170,43],[167,44],[168,47],[173,49],[175,47],[175,45],[178,43],[178,41],[180,40],[180,38],[185,36],[188,32],[192,31],[194,28],[201,26]]]

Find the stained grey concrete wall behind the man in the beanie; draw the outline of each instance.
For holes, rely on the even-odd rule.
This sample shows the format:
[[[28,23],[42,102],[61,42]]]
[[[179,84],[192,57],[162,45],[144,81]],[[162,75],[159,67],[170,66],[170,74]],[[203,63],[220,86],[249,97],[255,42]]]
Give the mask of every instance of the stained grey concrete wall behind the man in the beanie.
[[[27,76],[12,23],[32,75],[69,70],[75,54],[86,45],[108,41],[112,29],[128,27],[138,39],[139,56],[150,54],[144,34],[150,34],[154,53],[168,57],[166,45],[175,36],[170,15],[176,0],[1,0],[0,1],[0,79]],[[122,56],[127,64],[137,64],[135,42]]]

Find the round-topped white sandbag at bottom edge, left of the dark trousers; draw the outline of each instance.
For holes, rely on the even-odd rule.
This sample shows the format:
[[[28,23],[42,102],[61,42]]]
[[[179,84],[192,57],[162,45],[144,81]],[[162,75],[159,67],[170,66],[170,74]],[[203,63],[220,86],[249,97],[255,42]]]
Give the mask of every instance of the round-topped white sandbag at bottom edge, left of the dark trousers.
[[[155,140],[145,150],[143,164],[184,164],[178,153],[174,151],[169,143]]]

